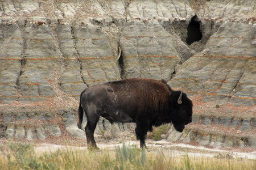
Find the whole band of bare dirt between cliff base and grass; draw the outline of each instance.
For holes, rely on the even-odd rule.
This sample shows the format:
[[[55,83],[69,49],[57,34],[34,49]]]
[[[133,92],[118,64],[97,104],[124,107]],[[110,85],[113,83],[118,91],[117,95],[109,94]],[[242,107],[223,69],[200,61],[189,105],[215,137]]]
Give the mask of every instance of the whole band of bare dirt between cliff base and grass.
[[[125,145],[137,145],[139,147],[139,141],[135,140],[135,135],[129,132],[122,132],[118,138],[104,139],[100,135],[95,135],[96,142],[100,151],[114,151],[118,147]],[[0,143],[5,145],[8,142],[18,142],[15,139],[7,140],[6,138],[0,138]],[[64,133],[61,137],[48,137],[46,140],[36,139],[35,141],[26,141],[19,139],[19,142],[27,142],[34,145],[36,153],[43,152],[55,152],[57,150],[65,150],[67,148],[75,148],[78,150],[87,151],[86,139],[75,138],[68,133]],[[183,156],[188,154],[193,157],[216,157],[216,158],[242,158],[242,159],[255,159],[256,149],[251,147],[244,148],[213,148],[199,146],[196,142],[188,144],[181,142],[169,142],[166,139],[160,141],[153,141],[152,139],[146,139],[148,152],[163,152],[166,156]]]

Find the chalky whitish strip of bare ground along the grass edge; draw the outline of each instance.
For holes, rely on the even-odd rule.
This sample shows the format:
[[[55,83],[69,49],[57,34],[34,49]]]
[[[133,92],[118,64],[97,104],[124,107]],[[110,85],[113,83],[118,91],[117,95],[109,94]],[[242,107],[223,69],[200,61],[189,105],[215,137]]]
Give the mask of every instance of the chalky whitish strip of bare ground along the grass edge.
[[[139,146],[138,141],[123,141],[125,145],[137,145]],[[122,147],[122,143],[99,143],[98,147],[101,148],[102,151],[108,149],[109,151],[115,150],[118,147]],[[239,151],[236,148],[229,148],[229,150],[220,149],[220,148],[207,148],[202,146],[193,146],[186,145],[184,143],[170,143],[165,140],[159,142],[150,142],[148,143],[148,152],[163,152],[165,156],[183,156],[188,154],[188,156],[193,157],[216,157],[216,158],[247,158],[247,159],[255,159],[256,160],[256,151],[248,150],[247,152]],[[49,143],[42,143],[39,146],[35,147],[35,151],[37,153],[42,152],[54,152],[57,150],[65,150],[67,148],[75,148],[77,150],[87,150],[87,147],[77,147],[77,146],[64,146],[64,145],[53,145]]]

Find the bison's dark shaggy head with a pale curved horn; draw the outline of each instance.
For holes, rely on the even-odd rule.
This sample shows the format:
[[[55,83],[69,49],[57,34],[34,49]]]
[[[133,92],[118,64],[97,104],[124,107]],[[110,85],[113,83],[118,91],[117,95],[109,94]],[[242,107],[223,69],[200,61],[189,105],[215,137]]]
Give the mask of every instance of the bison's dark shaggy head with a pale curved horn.
[[[192,101],[181,91],[172,91],[170,100],[172,124],[177,131],[182,132],[185,125],[192,122]]]

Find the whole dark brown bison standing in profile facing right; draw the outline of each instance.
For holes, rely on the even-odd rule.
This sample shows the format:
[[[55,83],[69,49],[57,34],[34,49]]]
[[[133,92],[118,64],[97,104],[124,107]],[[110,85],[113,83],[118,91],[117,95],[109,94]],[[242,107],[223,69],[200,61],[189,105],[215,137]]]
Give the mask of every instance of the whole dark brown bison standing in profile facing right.
[[[131,78],[94,85],[81,92],[79,128],[83,111],[89,147],[98,148],[94,130],[100,116],[113,122],[135,122],[135,134],[141,148],[147,148],[145,139],[152,126],[172,123],[182,132],[192,122],[192,101],[181,91],[174,91],[165,80]]]

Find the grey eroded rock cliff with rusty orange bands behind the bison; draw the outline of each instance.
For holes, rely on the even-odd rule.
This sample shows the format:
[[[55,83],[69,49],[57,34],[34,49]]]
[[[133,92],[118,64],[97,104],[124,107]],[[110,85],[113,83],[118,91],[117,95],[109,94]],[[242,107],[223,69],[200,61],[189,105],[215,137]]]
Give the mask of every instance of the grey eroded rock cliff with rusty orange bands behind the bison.
[[[85,138],[75,118],[80,92],[93,84],[146,77],[166,79],[195,101],[186,136],[171,131],[170,140],[198,136],[207,141],[201,145],[233,140],[229,146],[256,146],[255,1],[0,4],[0,135],[58,137],[63,124]],[[98,127],[104,124],[101,120]],[[222,131],[204,130],[212,126]],[[233,135],[226,137],[223,126]]]

